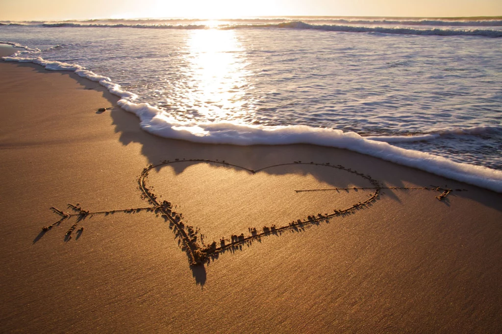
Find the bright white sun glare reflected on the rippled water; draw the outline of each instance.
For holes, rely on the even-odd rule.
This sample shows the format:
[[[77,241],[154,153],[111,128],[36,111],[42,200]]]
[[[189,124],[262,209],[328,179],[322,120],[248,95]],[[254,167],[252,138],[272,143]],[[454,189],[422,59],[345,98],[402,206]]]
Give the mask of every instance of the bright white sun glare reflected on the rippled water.
[[[235,31],[194,30],[187,47],[188,66],[182,69],[186,82],[184,92],[178,92],[182,96],[178,105],[181,102],[186,112],[199,119],[249,119],[253,101],[248,93],[253,87],[248,78],[252,73],[246,70],[244,48]]]

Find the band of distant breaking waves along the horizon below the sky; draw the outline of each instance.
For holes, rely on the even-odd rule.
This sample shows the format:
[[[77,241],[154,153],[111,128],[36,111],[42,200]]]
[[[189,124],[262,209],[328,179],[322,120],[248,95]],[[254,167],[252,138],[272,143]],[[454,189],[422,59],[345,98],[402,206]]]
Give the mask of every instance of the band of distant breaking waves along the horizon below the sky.
[[[365,19],[365,18],[288,18],[230,19],[214,25],[209,20],[137,19],[86,20],[63,22],[6,22],[1,25],[40,26],[46,28],[136,28],[136,29],[315,29],[347,33],[380,33],[421,36],[502,37],[502,19]],[[439,28],[438,28],[439,27]],[[484,29],[479,29],[479,27]],[[489,28],[492,29],[489,29]]]

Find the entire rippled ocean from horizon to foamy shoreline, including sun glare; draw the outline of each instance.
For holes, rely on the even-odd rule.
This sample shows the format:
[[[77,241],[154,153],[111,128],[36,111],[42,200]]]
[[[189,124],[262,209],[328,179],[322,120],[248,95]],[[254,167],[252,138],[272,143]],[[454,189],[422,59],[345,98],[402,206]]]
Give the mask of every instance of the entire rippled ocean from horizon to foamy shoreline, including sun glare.
[[[502,18],[2,22],[7,57],[197,142],[352,149],[502,191]]]

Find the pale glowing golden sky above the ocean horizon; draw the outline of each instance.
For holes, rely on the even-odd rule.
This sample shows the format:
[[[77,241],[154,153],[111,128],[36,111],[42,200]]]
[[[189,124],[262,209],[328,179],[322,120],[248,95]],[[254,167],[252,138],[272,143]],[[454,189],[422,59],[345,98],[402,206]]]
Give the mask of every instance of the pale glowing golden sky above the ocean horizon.
[[[0,20],[242,16],[502,16],[502,0],[0,0]]]

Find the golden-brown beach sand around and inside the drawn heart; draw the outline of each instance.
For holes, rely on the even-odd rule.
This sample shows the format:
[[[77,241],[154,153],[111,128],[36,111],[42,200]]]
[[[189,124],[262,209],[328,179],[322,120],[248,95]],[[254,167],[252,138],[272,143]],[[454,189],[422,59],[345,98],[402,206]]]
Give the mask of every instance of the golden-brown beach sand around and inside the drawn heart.
[[[343,149],[157,137],[120,108],[97,111],[117,101],[97,83],[33,64],[0,62],[0,97],[1,332],[502,330],[501,194]],[[453,191],[381,189],[205,266],[151,211],[81,217],[71,239],[78,217],[42,231],[61,218],[51,207],[151,206],[138,178],[164,160],[148,186],[206,244],[364,202],[374,185],[354,170]],[[328,188],[350,189],[295,192]]]

